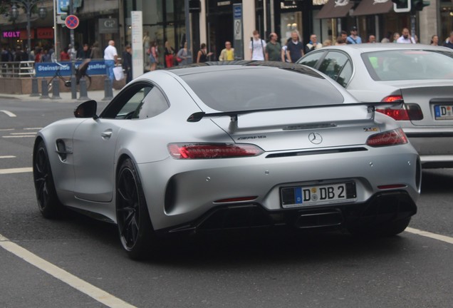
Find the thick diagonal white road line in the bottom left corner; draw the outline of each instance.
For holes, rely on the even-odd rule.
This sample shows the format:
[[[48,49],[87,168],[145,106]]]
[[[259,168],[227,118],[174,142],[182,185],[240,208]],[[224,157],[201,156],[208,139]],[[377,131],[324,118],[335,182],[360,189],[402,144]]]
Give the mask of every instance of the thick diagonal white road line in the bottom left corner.
[[[24,247],[17,245],[14,242],[11,242],[6,237],[0,234],[0,247],[3,247],[4,250],[11,252],[22,260],[28,262],[29,264],[38,267],[39,270],[51,274],[56,279],[69,284],[74,289],[87,294],[89,297],[92,297],[96,301],[105,304],[107,307],[128,307],[135,308],[131,304],[114,297],[112,294],[105,292],[103,289],[93,286],[85,280],[80,279],[79,277],[74,276],[73,274],[66,272],[66,270],[53,265],[51,262],[38,257],[37,255],[29,252]]]

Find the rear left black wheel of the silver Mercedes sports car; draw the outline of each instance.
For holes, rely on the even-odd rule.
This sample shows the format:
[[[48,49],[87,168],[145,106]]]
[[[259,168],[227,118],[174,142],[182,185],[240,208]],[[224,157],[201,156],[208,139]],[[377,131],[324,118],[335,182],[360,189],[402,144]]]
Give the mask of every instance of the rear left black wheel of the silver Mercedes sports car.
[[[121,245],[127,255],[135,260],[147,257],[154,230],[142,185],[130,158],[123,161],[117,175],[116,218]]]

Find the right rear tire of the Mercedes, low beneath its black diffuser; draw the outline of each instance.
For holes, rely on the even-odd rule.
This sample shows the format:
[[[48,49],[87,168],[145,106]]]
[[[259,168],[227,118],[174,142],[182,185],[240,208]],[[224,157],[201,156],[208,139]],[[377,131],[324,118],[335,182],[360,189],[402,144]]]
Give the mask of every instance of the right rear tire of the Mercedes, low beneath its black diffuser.
[[[391,237],[403,232],[410,223],[410,217],[402,220],[395,220],[382,225],[360,225],[349,227],[348,230],[352,235],[358,237]]]

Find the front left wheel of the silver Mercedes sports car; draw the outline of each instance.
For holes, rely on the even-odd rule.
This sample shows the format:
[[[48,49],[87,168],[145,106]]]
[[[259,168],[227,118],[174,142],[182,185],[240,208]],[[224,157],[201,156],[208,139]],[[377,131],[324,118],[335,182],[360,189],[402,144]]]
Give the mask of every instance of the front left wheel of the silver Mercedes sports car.
[[[51,164],[44,141],[39,141],[33,152],[33,180],[39,211],[46,218],[61,217],[63,205],[58,200]]]

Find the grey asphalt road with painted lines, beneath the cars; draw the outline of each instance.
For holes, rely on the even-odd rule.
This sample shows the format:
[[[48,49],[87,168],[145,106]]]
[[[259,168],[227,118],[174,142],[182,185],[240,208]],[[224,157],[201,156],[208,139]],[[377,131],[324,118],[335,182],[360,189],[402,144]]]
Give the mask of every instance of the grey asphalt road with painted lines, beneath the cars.
[[[397,237],[213,236],[135,262],[114,225],[38,212],[33,136],[76,104],[0,99],[0,307],[453,306],[452,169],[423,172],[413,229]]]

